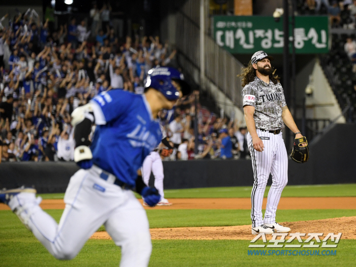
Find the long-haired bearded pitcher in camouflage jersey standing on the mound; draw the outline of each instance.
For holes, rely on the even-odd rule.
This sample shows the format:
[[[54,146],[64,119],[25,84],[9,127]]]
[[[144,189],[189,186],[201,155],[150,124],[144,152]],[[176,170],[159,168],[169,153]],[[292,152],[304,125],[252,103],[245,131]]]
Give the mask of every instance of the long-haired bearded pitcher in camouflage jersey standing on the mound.
[[[284,123],[303,138],[285,102],[279,77],[271,66],[272,56],[263,51],[253,54],[243,73],[243,105],[248,128],[248,147],[252,158],[254,183],[251,193],[252,233],[289,232],[276,222],[276,211],[282,190],[288,182],[288,157],[282,138]],[[304,144],[306,145],[306,144]],[[272,186],[262,218],[262,201],[268,178]]]

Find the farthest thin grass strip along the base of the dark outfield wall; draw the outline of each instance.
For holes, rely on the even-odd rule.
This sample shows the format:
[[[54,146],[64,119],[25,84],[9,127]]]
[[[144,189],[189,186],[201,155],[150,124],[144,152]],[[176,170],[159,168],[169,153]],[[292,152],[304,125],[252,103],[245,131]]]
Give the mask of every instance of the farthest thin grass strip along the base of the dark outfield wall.
[[[251,182],[252,183],[252,182]],[[267,197],[270,186],[266,187],[264,196]],[[250,197],[251,186],[239,187],[208,187],[191,189],[164,190],[166,198],[200,198],[200,197]],[[64,193],[39,194],[43,199],[62,199]],[[136,194],[137,197],[140,197]],[[287,185],[282,193],[286,196],[356,196],[356,184],[333,185]]]

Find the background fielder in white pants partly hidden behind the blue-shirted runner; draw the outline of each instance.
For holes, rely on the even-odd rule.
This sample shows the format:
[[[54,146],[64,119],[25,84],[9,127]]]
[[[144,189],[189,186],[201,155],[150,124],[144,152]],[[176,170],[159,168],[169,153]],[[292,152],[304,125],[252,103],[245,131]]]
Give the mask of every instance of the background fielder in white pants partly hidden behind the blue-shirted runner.
[[[179,85],[177,85],[179,86]],[[162,128],[161,128],[162,129]],[[165,133],[163,133],[163,139],[159,146],[152,151],[143,161],[142,164],[142,178],[143,182],[148,186],[150,181],[151,172],[155,176],[155,187],[157,188],[159,194],[161,195],[160,202],[157,203],[157,206],[171,206],[166,198],[164,198],[163,191],[163,163],[162,159],[168,157],[173,150],[172,142],[169,142],[168,138],[165,137]],[[143,202],[143,206],[149,206],[147,203]]]

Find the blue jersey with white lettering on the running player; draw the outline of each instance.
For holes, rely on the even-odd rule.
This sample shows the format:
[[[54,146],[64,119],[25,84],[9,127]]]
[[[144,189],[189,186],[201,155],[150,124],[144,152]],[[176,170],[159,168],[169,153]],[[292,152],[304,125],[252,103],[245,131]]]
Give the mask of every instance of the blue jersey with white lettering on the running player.
[[[134,187],[144,158],[161,142],[159,120],[145,95],[110,90],[91,103],[97,124],[91,145],[94,164]]]

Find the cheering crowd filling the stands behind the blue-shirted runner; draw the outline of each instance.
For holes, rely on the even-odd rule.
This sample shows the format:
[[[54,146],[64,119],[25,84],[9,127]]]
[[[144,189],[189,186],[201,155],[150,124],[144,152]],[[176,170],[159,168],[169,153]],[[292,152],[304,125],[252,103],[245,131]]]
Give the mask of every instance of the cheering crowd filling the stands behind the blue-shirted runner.
[[[104,8],[100,12],[103,12]],[[127,37],[120,42],[110,23],[96,19],[87,30],[76,18],[58,29],[41,22],[35,10],[18,13],[9,25],[0,21],[0,154],[6,161],[71,161],[74,153],[70,114],[107,90],[143,93],[147,72],[168,66],[175,50],[159,37]],[[100,23],[101,22],[101,23]],[[93,25],[94,24],[94,25]],[[104,30],[106,33],[104,34]],[[246,158],[246,128],[217,118],[197,106],[198,153],[195,151],[195,97],[162,111],[164,130],[174,143],[167,160]]]

